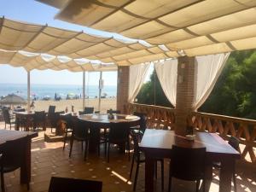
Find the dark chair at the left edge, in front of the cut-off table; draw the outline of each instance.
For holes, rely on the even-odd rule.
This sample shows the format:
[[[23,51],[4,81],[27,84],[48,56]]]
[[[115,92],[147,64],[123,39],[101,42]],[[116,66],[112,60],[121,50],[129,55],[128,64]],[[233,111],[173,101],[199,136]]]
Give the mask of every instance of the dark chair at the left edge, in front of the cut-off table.
[[[26,150],[26,137],[21,137],[12,141],[7,141],[4,148],[1,149],[0,171],[1,171],[1,189],[4,192],[4,177],[6,172],[14,172],[20,168],[22,162],[24,162],[24,151]],[[29,189],[29,183],[26,183],[27,189]]]

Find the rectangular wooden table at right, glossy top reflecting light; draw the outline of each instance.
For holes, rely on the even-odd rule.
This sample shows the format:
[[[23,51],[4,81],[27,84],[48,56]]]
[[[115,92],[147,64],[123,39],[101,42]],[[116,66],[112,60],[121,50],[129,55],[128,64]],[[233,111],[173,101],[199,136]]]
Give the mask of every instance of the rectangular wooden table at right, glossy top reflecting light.
[[[236,159],[240,154],[226,143],[216,133],[197,132],[195,141],[189,141],[186,137],[177,136],[174,131],[149,130],[147,129],[140,143],[140,148],[145,153],[145,191],[154,191],[154,159],[171,158],[172,145],[186,148],[207,148],[207,181],[206,191],[210,188],[212,181],[212,162],[221,162],[219,191],[231,191],[232,171]]]

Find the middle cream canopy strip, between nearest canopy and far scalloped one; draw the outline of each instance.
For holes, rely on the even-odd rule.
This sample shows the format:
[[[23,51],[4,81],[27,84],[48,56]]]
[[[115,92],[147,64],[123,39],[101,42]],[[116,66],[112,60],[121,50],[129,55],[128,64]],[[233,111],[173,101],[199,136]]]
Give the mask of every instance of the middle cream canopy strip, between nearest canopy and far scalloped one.
[[[142,44],[134,39],[98,37],[84,32],[72,32],[5,18],[0,18],[0,25],[0,49],[4,50],[66,55],[73,59],[86,58],[115,62],[117,65],[140,64],[153,61],[153,58],[178,56],[176,50],[169,51],[157,45]],[[160,58],[160,54],[164,57]]]

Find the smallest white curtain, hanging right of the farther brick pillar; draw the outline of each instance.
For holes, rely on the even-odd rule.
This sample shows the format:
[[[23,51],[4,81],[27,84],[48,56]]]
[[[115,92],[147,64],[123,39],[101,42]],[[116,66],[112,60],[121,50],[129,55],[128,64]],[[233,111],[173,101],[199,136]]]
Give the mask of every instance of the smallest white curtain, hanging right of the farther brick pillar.
[[[146,78],[150,63],[130,66],[129,79],[129,102],[134,102],[139,90],[142,88],[143,81]]]

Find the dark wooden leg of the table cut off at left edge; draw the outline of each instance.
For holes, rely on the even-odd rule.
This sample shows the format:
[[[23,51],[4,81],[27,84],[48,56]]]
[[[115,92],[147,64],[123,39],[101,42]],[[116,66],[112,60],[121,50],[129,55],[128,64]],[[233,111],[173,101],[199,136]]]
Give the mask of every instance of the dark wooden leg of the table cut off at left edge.
[[[20,183],[31,181],[31,138],[27,138],[23,161],[20,166]]]

